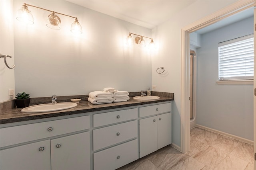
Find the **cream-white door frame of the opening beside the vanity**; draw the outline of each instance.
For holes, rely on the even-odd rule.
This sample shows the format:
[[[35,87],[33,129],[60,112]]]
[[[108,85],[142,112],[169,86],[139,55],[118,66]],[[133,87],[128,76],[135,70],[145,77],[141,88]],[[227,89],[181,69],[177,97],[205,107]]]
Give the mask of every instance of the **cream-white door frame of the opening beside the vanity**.
[[[186,153],[190,150],[190,72],[189,72],[189,58],[190,58],[190,38],[189,34],[216,23],[228,16],[241,12],[256,6],[256,0],[240,0],[207,16],[201,20],[198,20],[190,25],[187,25],[181,29],[181,106],[180,106],[180,151]],[[256,117],[254,113],[254,117]]]

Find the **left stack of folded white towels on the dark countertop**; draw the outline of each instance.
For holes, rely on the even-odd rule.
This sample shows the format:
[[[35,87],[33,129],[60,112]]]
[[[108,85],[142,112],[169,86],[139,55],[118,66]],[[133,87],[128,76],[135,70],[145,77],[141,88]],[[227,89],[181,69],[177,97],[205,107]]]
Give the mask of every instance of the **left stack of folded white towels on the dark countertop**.
[[[112,103],[114,94],[102,91],[94,91],[89,93],[88,101],[92,104]]]

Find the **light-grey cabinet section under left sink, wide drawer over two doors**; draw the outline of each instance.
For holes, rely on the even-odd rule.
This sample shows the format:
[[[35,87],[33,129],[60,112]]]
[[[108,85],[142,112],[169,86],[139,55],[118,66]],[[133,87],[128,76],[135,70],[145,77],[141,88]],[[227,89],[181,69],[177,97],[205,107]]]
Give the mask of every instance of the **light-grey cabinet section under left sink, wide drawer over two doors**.
[[[89,116],[1,128],[0,169],[90,170],[89,128]]]

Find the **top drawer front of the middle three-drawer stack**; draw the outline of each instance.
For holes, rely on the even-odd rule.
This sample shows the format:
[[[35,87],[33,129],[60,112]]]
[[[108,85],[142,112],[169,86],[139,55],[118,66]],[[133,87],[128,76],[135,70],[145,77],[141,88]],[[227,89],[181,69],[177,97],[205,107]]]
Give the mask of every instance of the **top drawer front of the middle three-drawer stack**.
[[[111,111],[93,115],[93,127],[109,125],[122,121],[136,119],[138,117],[138,109],[126,109],[120,111]]]

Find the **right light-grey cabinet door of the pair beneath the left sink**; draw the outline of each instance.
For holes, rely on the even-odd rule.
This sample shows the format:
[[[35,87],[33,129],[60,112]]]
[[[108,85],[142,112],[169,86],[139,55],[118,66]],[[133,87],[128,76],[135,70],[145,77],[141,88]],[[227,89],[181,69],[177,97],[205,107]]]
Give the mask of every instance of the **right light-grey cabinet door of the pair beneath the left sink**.
[[[90,133],[51,140],[52,170],[90,170]]]

